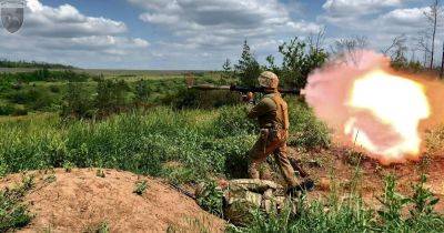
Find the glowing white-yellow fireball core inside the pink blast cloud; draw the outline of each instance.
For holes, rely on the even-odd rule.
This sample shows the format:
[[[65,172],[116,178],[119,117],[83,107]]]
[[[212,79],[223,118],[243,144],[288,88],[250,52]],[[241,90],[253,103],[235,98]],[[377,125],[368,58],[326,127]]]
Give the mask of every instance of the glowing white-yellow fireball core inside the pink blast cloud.
[[[382,155],[384,163],[404,161],[420,154],[420,122],[431,115],[425,89],[421,83],[376,69],[356,79],[345,103],[351,112],[344,133],[369,152]],[[370,114],[385,130],[385,136],[357,122],[354,115]],[[361,119],[362,121],[362,119]],[[376,132],[377,133],[377,132]]]

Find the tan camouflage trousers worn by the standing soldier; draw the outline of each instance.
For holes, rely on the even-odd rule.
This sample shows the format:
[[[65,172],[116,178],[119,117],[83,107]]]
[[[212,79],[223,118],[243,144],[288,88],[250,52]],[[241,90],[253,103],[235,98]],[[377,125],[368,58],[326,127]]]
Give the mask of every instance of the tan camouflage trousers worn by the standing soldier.
[[[289,186],[296,186],[297,179],[294,176],[294,170],[287,158],[286,149],[287,131],[274,129],[261,129],[261,134],[249,152],[250,164],[249,174],[252,179],[260,179],[259,166],[270,154],[274,155]]]

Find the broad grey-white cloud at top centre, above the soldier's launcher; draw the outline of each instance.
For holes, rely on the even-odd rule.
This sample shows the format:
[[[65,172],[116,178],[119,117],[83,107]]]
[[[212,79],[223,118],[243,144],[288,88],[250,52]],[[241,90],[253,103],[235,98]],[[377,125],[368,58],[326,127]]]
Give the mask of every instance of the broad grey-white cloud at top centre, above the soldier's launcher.
[[[233,47],[245,38],[254,42],[321,29],[314,22],[293,20],[286,6],[278,0],[128,1],[145,10],[140,20],[193,48]]]

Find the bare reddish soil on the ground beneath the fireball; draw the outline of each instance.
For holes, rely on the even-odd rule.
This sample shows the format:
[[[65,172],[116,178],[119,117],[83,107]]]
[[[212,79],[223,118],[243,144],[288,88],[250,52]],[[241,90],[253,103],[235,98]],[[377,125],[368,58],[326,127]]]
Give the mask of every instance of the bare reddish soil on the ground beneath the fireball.
[[[347,155],[350,151],[351,149],[346,148],[311,153],[290,150],[291,155],[301,160],[303,168],[319,184],[309,194],[309,199],[327,197],[331,191],[336,191],[340,196],[345,197],[354,189],[369,205],[380,206],[381,203],[376,197],[383,194],[384,179],[389,174],[395,176],[397,192],[403,195],[411,195],[412,184],[417,183],[421,175],[425,174],[427,176],[425,186],[442,200],[436,205],[436,211],[444,213],[444,156],[383,166],[365,156],[361,160],[351,159]]]

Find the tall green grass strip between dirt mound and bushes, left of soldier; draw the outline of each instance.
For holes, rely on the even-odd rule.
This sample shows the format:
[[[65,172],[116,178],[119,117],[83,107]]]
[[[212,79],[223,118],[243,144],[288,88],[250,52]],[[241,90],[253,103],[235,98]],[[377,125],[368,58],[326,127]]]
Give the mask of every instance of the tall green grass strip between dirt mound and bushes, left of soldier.
[[[310,114],[301,109],[299,115],[303,112]],[[300,130],[316,129],[294,124],[292,132],[306,133]],[[245,176],[246,152],[255,133],[243,105],[205,111],[162,107],[104,121],[63,122],[54,115],[4,121],[0,123],[0,171],[70,164],[121,169],[175,183],[199,181],[209,174]],[[319,134],[327,136],[323,131]],[[171,168],[171,162],[178,165]]]

